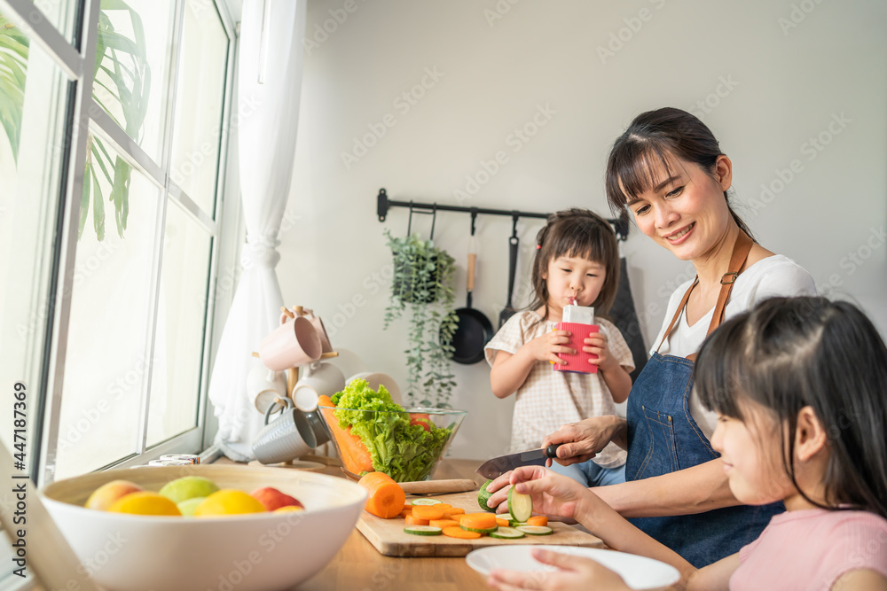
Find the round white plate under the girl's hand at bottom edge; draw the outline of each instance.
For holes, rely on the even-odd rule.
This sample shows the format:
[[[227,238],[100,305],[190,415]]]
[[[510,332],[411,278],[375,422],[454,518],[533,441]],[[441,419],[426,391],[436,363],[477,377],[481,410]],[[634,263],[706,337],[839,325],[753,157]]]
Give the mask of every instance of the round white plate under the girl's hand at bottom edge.
[[[619,573],[625,584],[632,589],[667,587],[680,579],[678,569],[652,558],[616,552],[616,550],[577,546],[491,546],[470,552],[465,557],[465,562],[484,576],[489,575],[492,569],[553,572],[555,570],[553,566],[542,564],[533,558],[530,554],[532,548],[546,548],[562,554],[591,558]]]

